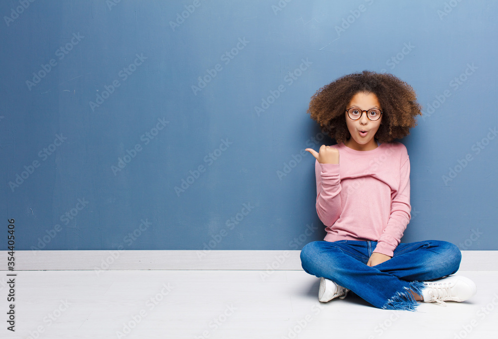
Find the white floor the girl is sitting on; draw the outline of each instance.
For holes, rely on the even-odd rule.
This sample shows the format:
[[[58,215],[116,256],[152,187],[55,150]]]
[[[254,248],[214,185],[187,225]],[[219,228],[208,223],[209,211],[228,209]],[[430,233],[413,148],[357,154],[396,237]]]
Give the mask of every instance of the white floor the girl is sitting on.
[[[8,272],[1,272],[3,280]],[[304,271],[16,271],[15,332],[0,338],[497,338],[498,271],[459,271],[477,295],[464,303],[375,309],[356,296],[319,303]],[[127,326],[130,328],[127,328]]]

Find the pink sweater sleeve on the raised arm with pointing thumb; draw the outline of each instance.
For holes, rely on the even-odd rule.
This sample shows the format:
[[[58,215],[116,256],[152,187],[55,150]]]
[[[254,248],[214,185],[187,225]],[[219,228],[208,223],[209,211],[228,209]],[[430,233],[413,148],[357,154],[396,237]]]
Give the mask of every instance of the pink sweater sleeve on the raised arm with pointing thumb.
[[[332,226],[341,215],[339,164],[315,162],[316,212],[325,226]]]

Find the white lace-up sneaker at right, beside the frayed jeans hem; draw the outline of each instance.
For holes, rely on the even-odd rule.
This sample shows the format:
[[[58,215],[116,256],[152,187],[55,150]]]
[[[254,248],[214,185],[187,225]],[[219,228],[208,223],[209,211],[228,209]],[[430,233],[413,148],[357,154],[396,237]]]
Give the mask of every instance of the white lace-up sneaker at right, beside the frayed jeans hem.
[[[469,278],[452,275],[436,281],[424,282],[422,296],[425,303],[436,302],[446,306],[445,301],[462,302],[472,298],[476,292],[476,284]]]

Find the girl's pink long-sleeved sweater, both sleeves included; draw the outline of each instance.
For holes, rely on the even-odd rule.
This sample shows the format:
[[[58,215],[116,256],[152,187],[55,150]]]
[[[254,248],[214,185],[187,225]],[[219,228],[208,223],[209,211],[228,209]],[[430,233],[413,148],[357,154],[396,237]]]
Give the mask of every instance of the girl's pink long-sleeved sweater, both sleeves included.
[[[392,256],[410,221],[410,160],[405,145],[386,142],[371,151],[344,144],[339,164],[315,161],[316,211],[324,240],[377,241],[374,252]]]

